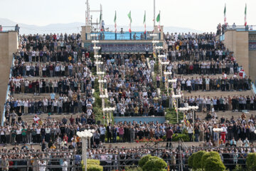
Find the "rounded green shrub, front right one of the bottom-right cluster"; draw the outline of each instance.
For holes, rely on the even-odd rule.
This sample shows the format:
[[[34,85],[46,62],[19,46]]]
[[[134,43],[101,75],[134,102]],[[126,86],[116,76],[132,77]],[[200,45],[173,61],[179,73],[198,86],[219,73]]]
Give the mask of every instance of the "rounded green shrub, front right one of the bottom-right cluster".
[[[194,159],[194,162],[196,160]],[[223,165],[223,162],[219,160],[216,157],[208,157],[205,161],[204,165],[204,170],[205,171],[224,171],[225,170],[225,165]]]

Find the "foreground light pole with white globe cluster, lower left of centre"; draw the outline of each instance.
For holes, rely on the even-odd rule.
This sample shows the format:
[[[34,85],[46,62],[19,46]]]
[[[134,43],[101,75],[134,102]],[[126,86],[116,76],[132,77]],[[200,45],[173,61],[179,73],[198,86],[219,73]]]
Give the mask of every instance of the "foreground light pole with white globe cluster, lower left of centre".
[[[92,138],[93,133],[95,133],[95,130],[84,130],[77,132],[78,137],[82,139],[82,160],[85,164],[85,171],[87,171],[87,139],[89,139],[90,142],[90,138]]]

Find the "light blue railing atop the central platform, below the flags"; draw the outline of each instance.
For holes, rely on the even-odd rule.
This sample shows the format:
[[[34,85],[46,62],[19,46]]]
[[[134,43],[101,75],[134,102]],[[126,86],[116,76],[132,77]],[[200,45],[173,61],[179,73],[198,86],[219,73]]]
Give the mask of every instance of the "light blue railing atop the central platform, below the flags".
[[[156,33],[157,36],[154,36],[155,40],[160,40],[161,33]],[[153,37],[150,36],[150,33],[143,31],[134,31],[132,33],[129,32],[123,32],[123,33],[113,33],[113,32],[102,32],[102,33],[86,33],[85,39],[86,40],[92,40],[94,37],[91,35],[97,35],[95,36],[95,39],[97,40],[152,40]]]

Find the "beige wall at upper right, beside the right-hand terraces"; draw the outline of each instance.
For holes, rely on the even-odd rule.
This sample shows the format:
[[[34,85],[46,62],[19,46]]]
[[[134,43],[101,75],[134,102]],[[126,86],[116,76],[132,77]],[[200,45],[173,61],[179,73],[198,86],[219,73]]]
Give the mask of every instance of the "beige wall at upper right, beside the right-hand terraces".
[[[249,73],[249,43],[248,31],[225,31],[225,47],[234,52],[238,64]],[[250,73],[249,73],[250,75]]]

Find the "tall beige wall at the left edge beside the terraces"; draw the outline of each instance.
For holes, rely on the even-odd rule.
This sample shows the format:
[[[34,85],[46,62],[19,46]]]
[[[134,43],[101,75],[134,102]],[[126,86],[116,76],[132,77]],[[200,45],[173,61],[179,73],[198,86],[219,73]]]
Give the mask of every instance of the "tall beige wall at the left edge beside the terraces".
[[[1,113],[6,100],[6,90],[9,83],[9,73],[13,53],[18,48],[18,36],[16,31],[0,32],[0,107]]]

